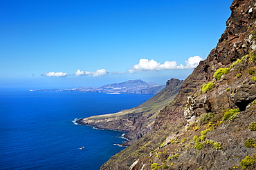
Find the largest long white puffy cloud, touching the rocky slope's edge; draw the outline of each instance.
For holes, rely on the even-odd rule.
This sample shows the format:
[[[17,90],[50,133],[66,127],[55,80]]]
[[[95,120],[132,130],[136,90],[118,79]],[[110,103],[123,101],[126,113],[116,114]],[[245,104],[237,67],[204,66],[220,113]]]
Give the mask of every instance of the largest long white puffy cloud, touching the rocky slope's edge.
[[[143,71],[152,71],[152,70],[177,70],[177,69],[192,69],[199,65],[199,62],[203,60],[200,56],[192,56],[185,61],[186,65],[178,65],[176,61],[165,61],[165,63],[161,64],[157,61],[148,60],[148,59],[140,59],[137,65],[134,65],[128,72],[143,72]]]

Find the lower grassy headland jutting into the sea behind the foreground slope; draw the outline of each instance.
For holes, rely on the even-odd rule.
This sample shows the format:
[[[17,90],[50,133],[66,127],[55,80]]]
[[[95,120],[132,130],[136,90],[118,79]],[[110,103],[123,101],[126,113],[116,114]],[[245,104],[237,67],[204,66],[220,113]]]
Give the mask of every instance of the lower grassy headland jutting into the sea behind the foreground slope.
[[[129,138],[130,141],[125,145],[131,145],[152,129],[158,112],[172,102],[182,84],[183,81],[172,78],[167,81],[165,89],[138,107],[122,110],[116,114],[84,118],[77,120],[77,123],[104,129],[128,131],[125,138]]]

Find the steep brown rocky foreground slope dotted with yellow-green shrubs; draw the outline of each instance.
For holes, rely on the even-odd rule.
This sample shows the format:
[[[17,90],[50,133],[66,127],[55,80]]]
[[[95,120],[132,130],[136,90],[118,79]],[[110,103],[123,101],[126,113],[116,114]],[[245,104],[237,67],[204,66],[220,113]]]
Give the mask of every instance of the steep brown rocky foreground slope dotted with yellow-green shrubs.
[[[256,1],[230,9],[217,47],[152,130],[101,169],[256,169]]]

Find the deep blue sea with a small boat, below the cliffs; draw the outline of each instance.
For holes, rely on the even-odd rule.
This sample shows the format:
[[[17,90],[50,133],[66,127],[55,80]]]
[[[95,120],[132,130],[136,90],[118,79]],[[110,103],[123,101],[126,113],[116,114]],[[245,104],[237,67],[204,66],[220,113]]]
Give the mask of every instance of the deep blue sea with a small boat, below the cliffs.
[[[100,169],[125,149],[114,145],[125,141],[124,132],[73,120],[136,107],[151,97],[0,90],[0,169]]]

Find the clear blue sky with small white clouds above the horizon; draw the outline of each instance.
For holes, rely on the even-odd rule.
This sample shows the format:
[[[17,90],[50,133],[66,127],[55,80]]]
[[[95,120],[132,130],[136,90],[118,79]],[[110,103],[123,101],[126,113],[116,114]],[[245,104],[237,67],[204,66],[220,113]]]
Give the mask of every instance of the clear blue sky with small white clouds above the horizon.
[[[231,0],[0,0],[0,88],[185,79],[217,45]]]

